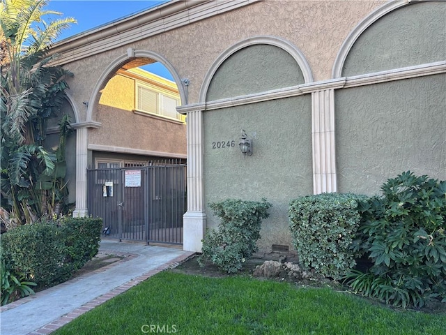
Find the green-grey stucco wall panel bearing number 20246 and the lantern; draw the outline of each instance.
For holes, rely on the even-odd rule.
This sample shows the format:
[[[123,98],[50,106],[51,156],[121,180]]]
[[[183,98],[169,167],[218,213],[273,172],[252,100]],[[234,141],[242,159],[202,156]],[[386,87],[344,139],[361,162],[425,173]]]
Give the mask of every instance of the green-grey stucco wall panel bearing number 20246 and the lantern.
[[[288,205],[312,194],[311,96],[298,96],[203,113],[204,196],[208,228],[219,219],[207,204],[227,198],[273,204],[264,221],[260,251],[272,244],[291,246]],[[243,158],[240,130],[252,137],[254,154]],[[213,149],[213,142],[234,141],[235,147]]]

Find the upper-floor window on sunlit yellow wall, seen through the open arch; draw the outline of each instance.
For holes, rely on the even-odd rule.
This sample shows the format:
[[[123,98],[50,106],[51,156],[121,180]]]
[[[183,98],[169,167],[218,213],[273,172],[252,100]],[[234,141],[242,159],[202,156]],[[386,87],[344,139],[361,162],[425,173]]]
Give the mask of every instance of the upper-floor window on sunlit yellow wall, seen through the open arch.
[[[137,111],[185,121],[185,116],[176,111],[180,100],[174,94],[169,94],[167,91],[156,91],[153,87],[137,82],[135,96]]]

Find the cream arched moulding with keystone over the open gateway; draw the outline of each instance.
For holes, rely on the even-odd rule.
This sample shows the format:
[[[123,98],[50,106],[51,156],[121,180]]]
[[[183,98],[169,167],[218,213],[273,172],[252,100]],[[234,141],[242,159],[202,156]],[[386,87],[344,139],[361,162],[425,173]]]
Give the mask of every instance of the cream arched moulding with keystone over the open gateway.
[[[105,70],[100,75],[98,81],[96,82],[95,86],[93,87],[93,91],[91,93],[89,100],[89,106],[86,112],[87,122],[93,121],[93,110],[95,110],[100,99],[99,91],[105,87],[107,82],[114,75],[114,73],[116,73],[116,70],[118,70],[118,68],[121,68],[121,66],[127,64],[129,61],[132,61],[132,59],[136,58],[153,59],[155,61],[159,61],[162,65],[164,65],[167,68],[167,70],[169,70],[172,77],[174,77],[174,81],[176,82],[176,86],[178,87],[178,92],[180,94],[181,103],[183,104],[187,101],[186,89],[183,86],[183,82],[180,78],[180,75],[178,75],[178,72],[176,71],[174,66],[170,64],[170,62],[165,57],[151,51],[134,50],[132,48],[128,48],[127,54],[123,54],[122,56],[116,58],[111,64],[109,64],[109,66],[107,66],[107,68],[105,68]]]

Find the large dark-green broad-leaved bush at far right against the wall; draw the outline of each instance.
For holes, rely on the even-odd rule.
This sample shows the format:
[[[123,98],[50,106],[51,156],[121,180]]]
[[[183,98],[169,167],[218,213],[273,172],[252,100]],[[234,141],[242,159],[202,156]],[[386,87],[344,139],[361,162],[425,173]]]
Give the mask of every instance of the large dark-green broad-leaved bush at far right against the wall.
[[[360,203],[362,221],[353,245],[373,266],[367,276],[353,273],[348,281],[394,306],[446,302],[446,181],[409,171],[388,179],[381,191]]]

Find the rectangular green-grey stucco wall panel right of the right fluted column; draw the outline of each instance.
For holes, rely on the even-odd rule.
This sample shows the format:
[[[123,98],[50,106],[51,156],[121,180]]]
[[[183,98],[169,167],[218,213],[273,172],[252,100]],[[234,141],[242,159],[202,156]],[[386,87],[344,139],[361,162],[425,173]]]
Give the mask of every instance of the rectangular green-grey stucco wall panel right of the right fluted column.
[[[335,91],[339,192],[375,194],[403,171],[446,179],[446,75]]]

